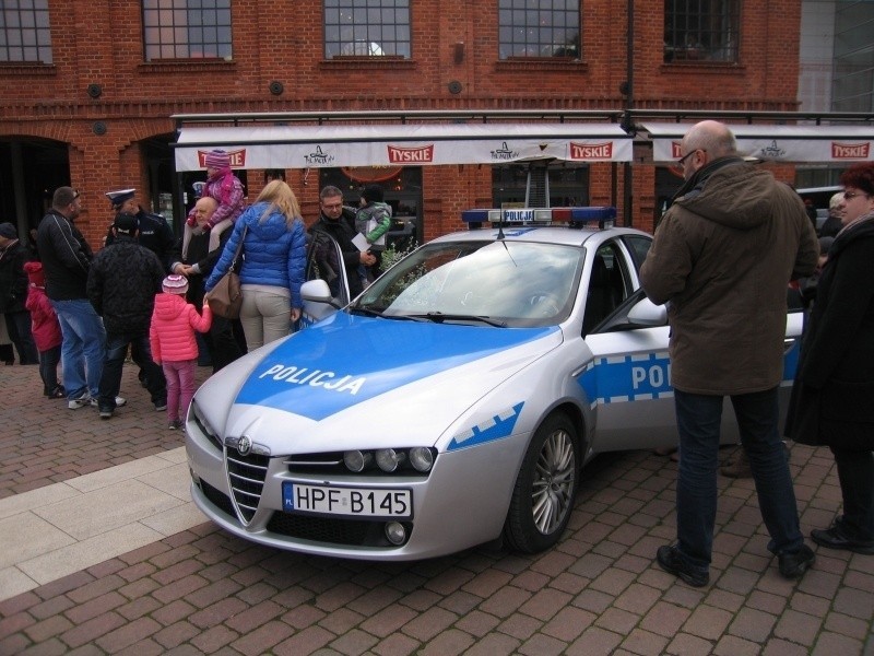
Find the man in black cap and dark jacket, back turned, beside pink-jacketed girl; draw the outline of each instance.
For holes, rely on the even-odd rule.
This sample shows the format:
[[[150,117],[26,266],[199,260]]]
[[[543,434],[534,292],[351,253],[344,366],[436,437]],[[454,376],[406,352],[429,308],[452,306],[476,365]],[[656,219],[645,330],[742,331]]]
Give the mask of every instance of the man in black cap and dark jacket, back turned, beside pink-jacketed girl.
[[[155,294],[165,271],[157,256],[137,243],[137,226],[134,214],[118,214],[111,227],[113,243],[96,255],[88,270],[88,300],[106,327],[106,360],[97,394],[101,419],[109,419],[122,405],[118,391],[128,345],[141,354],[155,410],[167,407],[164,372],[152,360],[149,343]]]

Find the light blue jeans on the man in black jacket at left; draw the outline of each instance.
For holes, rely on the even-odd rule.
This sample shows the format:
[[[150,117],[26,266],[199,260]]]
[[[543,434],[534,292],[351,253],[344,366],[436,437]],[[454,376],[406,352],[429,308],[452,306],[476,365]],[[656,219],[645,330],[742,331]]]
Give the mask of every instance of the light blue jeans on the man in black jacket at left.
[[[61,325],[61,366],[67,398],[97,396],[106,353],[103,319],[86,298],[52,301]]]

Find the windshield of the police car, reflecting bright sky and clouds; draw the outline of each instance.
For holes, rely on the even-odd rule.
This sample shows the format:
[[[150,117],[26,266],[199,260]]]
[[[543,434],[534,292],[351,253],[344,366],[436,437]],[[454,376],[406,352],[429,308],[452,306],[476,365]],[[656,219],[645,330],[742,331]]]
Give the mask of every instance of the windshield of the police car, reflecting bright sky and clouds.
[[[548,326],[574,305],[583,250],[530,242],[423,246],[376,280],[350,309],[390,318]]]

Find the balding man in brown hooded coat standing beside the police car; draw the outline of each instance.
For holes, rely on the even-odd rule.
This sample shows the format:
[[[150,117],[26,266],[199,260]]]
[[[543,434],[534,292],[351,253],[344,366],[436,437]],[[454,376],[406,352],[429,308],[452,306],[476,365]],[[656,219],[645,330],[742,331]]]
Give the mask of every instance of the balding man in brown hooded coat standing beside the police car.
[[[694,125],[681,142],[685,184],[640,268],[650,301],[670,302],[671,382],[680,469],[676,544],[659,565],[693,586],[709,582],[717,513],[719,426],[731,397],[780,574],[801,576],[804,543],[778,427],[787,286],[813,272],[818,244],[801,198],[744,162],[723,124]]]

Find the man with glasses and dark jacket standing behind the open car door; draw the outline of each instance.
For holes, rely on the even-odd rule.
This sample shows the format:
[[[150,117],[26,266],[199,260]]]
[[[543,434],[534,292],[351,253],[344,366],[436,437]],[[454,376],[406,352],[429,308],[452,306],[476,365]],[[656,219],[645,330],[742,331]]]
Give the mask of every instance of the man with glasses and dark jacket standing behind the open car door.
[[[362,283],[361,267],[370,267],[376,263],[376,257],[367,250],[359,250],[352,239],[357,234],[355,230],[355,210],[343,206],[343,192],[333,186],[324,187],[319,194],[319,219],[309,229],[310,235],[314,237],[312,247],[317,249],[317,259],[319,266],[323,267],[326,271],[323,276],[330,278],[328,284],[331,286],[331,292],[339,296],[339,288],[334,280],[339,280],[339,271],[328,270],[333,267],[342,266],[346,270],[346,279],[349,281],[350,298],[354,298],[364,291]],[[326,234],[333,237],[343,255],[343,262],[332,261],[332,247],[327,243],[318,239],[319,234]],[[336,278],[334,278],[336,277]]]

